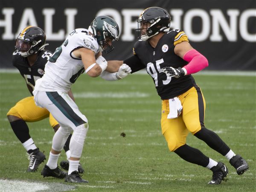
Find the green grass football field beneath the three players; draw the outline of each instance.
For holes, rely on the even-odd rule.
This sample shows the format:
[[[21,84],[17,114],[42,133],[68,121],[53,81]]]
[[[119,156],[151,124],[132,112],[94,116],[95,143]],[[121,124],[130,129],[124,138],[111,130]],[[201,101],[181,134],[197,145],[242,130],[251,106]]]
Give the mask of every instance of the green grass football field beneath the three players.
[[[73,85],[76,103],[89,120],[81,157],[85,169],[82,177],[89,180],[88,184],[68,184],[56,178],[43,178],[40,172],[46,161],[37,172],[25,173],[29,162],[26,151],[15,137],[6,113],[17,101],[29,96],[29,92],[20,74],[0,73],[1,185],[8,179],[68,184],[75,186],[76,192],[256,191],[256,77],[194,77],[207,103],[206,127],[247,160],[250,170],[244,175],[237,175],[225,157],[191,134],[187,139],[189,145],[227,165],[227,181],[209,186],[211,171],[169,152],[160,128],[160,97],[151,77],[136,74],[114,82],[82,75]],[[35,144],[48,157],[54,134],[48,119],[28,125]],[[122,132],[126,137],[120,136]],[[59,162],[65,159],[62,152]],[[0,191],[10,190],[2,187]]]

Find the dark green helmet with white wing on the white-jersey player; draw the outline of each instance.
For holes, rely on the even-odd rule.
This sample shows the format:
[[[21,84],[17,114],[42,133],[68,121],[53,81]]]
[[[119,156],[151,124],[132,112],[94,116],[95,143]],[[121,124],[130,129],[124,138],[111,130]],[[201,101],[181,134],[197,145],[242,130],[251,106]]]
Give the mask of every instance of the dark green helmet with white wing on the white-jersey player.
[[[89,30],[93,33],[94,38],[97,39],[99,50],[105,53],[111,52],[114,47],[106,42],[106,38],[119,40],[119,26],[115,20],[108,16],[96,17],[89,26]]]

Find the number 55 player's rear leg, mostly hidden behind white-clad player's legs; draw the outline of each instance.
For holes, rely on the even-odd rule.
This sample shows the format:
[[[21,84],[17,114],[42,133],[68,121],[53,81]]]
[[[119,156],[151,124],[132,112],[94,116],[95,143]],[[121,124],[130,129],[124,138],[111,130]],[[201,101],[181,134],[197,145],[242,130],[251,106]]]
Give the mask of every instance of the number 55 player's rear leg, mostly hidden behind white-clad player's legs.
[[[56,132],[58,130],[58,128],[60,127],[60,125],[58,124],[58,122],[56,121],[56,119],[54,119],[54,117],[52,116],[52,114],[50,113],[49,115],[49,123],[50,125],[52,126],[52,128],[54,129],[54,131]],[[70,145],[70,139],[72,137],[72,134],[70,134],[68,137],[67,137],[67,141],[66,143],[64,144],[64,151],[66,152],[66,155],[67,155],[67,160],[63,160],[61,161],[60,163],[60,166],[62,169],[65,169],[68,171],[68,168],[69,168],[69,159],[70,159],[70,148],[69,148],[69,145]],[[79,162],[79,166],[78,166],[78,172],[79,173],[84,173],[84,169],[81,165],[81,163]]]

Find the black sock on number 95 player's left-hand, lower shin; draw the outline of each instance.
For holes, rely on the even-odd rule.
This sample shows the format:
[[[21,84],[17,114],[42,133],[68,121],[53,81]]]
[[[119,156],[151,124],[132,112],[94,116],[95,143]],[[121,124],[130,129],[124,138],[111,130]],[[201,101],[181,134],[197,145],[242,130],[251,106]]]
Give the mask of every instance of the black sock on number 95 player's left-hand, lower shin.
[[[205,156],[201,151],[192,148],[189,145],[182,145],[174,151],[183,160],[194,163],[203,167],[209,164],[209,157]]]

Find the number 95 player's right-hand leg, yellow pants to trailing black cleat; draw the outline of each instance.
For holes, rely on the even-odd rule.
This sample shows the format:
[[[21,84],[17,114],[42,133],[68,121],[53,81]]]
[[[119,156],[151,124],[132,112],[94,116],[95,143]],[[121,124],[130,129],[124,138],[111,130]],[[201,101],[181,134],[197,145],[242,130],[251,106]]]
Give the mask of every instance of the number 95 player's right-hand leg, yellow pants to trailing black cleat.
[[[209,147],[225,156],[230,164],[236,168],[237,174],[241,175],[249,169],[248,164],[240,155],[236,155],[215,132],[205,128],[205,100],[201,89],[192,87],[183,100],[183,120],[189,131],[207,143]]]

